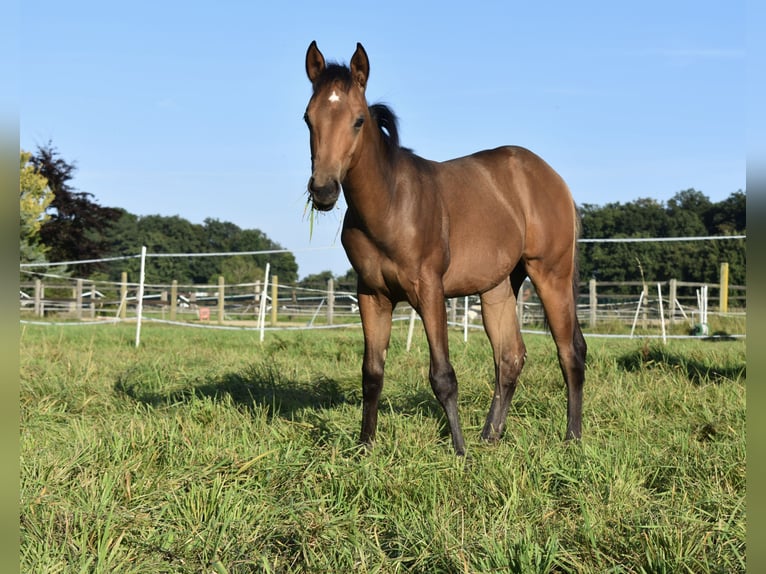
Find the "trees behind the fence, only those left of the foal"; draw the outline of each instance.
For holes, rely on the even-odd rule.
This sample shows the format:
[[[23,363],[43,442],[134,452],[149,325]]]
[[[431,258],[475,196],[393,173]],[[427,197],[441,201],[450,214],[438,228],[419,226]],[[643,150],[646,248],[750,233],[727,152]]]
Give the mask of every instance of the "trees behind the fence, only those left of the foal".
[[[94,196],[76,190],[76,166],[51,145],[32,154],[21,153],[21,262],[85,261],[136,255],[141,246],[150,253],[229,253],[279,250],[283,247],[258,229],[208,218],[192,223],[178,215],[139,216],[119,207],[104,207]],[[44,182],[45,189],[41,189]],[[26,183],[26,187],[25,187]],[[34,184],[34,185],[33,185]],[[24,210],[23,206],[27,206]],[[26,222],[25,222],[26,220]],[[28,222],[37,222],[34,227]],[[216,283],[262,280],[266,263],[286,283],[298,280],[298,264],[291,253],[228,257],[172,257],[152,260],[148,283]],[[117,281],[123,271],[135,281],[140,261],[93,262],[70,272],[78,277]],[[35,268],[38,269],[38,268]],[[61,273],[60,267],[55,268]]]

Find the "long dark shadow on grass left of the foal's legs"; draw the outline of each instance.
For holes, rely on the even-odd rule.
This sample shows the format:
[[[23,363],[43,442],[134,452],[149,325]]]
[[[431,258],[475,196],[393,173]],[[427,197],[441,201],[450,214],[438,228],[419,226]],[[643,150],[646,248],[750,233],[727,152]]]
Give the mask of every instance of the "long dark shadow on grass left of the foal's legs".
[[[159,388],[158,388],[159,387]],[[245,373],[224,373],[212,380],[180,386],[172,381],[147,379],[141,372],[127,372],[115,383],[116,392],[153,407],[171,406],[200,398],[231,400],[237,406],[266,409],[269,417],[293,418],[305,409],[328,409],[353,403],[341,385],[321,378],[299,382],[275,378],[274,373],[251,369]]]

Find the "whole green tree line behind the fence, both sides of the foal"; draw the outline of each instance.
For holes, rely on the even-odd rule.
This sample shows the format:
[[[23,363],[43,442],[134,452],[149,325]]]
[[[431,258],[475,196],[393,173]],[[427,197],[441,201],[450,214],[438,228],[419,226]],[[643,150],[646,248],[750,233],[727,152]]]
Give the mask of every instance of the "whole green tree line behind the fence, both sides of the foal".
[[[282,249],[258,229],[208,218],[192,223],[178,215],[138,216],[119,207],[98,204],[91,193],[72,186],[76,166],[47,144],[35,153],[20,154],[20,261],[58,262],[104,259],[137,254],[142,245],[154,253],[221,253]],[[744,235],[746,194],[736,191],[720,202],[701,191],[687,189],[667,202],[637,199],[603,206],[579,207],[581,237],[699,237]],[[298,280],[291,253],[227,257],[157,258],[147,268],[149,283],[215,283],[262,279],[266,263],[283,283],[322,289],[328,279],[337,288],[353,290],[352,269],[342,276],[331,271]],[[580,277],[602,282],[681,281],[717,282],[720,264],[728,262],[730,282],[745,285],[745,241],[672,243],[581,243]],[[128,259],[78,265],[78,277],[117,281],[123,271],[138,276],[139,261]],[[35,268],[37,269],[37,268]],[[55,268],[61,273],[61,268]]]

